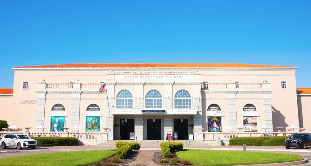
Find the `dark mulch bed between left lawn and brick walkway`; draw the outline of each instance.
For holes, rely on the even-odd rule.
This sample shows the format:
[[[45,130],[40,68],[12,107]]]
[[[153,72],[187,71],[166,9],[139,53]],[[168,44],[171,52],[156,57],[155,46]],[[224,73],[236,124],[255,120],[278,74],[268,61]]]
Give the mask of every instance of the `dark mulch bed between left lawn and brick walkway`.
[[[137,159],[137,156],[139,154],[140,150],[132,150],[130,153],[128,153],[124,159],[121,159],[120,162],[118,163],[114,163],[111,161],[111,159],[117,159],[117,155],[114,155],[112,157],[109,157],[108,161],[110,163],[110,165],[113,165],[113,166],[117,166],[117,165],[124,165],[124,164],[130,164],[132,163],[133,161],[135,161]],[[97,165],[97,164],[96,164]],[[101,161],[99,163],[99,165],[103,165],[103,162]],[[87,165],[87,166],[95,166],[94,164],[90,164],[90,165]]]

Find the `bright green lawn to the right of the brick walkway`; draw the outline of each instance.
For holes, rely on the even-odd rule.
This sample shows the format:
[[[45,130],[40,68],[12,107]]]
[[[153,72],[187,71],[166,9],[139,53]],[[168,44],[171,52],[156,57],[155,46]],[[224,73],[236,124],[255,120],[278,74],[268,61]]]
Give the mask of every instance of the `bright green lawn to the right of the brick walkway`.
[[[200,150],[188,149],[176,153],[179,159],[189,160],[198,165],[245,165],[299,161],[304,157],[295,154]]]

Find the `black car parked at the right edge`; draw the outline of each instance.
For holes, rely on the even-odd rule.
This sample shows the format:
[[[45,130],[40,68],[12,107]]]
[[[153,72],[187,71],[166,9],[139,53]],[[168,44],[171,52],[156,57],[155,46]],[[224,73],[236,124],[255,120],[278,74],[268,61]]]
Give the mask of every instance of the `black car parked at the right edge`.
[[[302,148],[306,149],[307,146],[311,146],[310,134],[293,134],[285,140],[285,148]]]

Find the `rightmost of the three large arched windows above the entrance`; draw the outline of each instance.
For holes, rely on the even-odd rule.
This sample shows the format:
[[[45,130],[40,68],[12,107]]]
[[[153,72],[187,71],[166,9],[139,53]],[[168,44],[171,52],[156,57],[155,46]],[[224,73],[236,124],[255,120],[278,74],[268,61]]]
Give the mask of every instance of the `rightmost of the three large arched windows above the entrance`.
[[[175,93],[175,108],[190,108],[191,96],[187,90],[179,90]]]

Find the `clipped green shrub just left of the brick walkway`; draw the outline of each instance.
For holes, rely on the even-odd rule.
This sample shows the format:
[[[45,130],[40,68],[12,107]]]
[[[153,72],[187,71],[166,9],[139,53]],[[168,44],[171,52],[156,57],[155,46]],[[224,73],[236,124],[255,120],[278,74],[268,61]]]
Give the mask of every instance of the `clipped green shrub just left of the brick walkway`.
[[[116,148],[118,158],[122,159],[133,149],[140,149],[140,145],[137,142],[118,141],[116,143]]]

